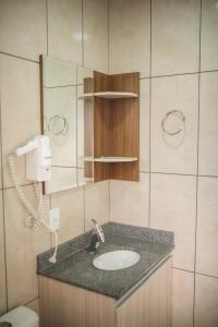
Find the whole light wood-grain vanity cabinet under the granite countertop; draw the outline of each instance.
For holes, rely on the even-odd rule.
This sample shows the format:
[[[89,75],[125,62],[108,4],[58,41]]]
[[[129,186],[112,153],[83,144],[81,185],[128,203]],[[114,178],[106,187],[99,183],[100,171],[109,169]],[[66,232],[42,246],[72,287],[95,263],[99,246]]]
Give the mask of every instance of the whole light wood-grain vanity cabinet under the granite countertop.
[[[39,276],[41,327],[170,327],[171,259],[120,305],[112,299]]]

